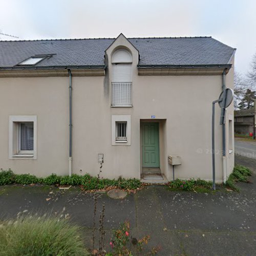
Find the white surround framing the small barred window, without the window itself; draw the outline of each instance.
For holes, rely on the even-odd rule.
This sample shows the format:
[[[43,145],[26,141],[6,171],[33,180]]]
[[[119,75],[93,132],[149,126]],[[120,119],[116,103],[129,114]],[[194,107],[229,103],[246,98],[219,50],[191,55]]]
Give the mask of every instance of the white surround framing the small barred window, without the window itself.
[[[116,141],[116,122],[127,122],[127,142]],[[131,146],[131,115],[112,115],[112,145]]]

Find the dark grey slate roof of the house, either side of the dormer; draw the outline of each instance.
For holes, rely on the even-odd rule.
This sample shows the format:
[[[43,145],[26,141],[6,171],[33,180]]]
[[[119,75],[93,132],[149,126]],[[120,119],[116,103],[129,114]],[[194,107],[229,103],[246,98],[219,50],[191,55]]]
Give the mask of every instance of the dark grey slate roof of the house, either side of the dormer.
[[[211,37],[127,38],[139,51],[139,65],[227,65],[235,49]],[[55,54],[35,67],[104,66],[115,38],[0,41],[0,69],[36,54]]]

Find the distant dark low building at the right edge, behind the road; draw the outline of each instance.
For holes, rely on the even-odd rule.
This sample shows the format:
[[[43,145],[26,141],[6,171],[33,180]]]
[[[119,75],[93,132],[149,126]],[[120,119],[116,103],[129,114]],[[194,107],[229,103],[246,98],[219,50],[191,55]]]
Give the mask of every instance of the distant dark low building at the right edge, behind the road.
[[[254,104],[254,108],[251,109],[234,111],[234,133],[242,135],[252,133],[253,136],[255,136],[255,120],[256,104]]]

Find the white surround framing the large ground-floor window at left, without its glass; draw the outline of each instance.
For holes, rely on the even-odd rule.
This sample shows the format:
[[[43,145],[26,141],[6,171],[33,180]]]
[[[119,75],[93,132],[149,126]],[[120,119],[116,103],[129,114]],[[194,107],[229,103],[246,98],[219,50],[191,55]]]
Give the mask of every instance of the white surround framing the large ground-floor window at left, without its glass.
[[[19,122],[33,122],[34,150],[18,152],[18,125]],[[15,136],[16,134],[16,136]],[[15,138],[16,137],[16,138]],[[25,154],[23,154],[25,153]],[[37,159],[37,116],[9,116],[9,159]]]

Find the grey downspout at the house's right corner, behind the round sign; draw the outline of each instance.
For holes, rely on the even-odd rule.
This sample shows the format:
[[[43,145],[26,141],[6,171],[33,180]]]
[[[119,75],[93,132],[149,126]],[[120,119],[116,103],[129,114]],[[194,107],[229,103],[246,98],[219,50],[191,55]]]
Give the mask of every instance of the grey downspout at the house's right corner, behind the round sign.
[[[222,73],[222,91],[223,99],[226,100],[226,69]],[[227,181],[227,162],[226,162],[226,124],[225,124],[225,103],[224,107],[221,108],[221,121],[222,124],[222,169],[223,169],[223,182]]]

